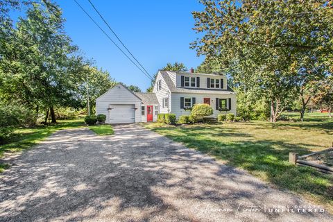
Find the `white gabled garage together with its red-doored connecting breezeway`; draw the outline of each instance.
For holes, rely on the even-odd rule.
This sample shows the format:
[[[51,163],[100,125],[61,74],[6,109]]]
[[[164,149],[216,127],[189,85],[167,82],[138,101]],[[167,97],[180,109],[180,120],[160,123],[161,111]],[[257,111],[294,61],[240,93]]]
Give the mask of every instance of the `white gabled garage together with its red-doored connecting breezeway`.
[[[158,108],[155,94],[133,93],[121,83],[96,99],[96,114],[105,114],[105,123],[156,121]]]

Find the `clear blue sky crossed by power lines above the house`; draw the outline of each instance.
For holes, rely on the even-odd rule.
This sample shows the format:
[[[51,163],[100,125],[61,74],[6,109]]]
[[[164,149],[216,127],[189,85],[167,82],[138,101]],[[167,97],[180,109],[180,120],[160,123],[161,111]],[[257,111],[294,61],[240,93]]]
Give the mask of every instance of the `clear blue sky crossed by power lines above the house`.
[[[57,1],[67,20],[65,30],[87,58],[110,71],[110,76],[125,84],[139,86],[143,91],[150,85],[144,76],[83,14],[73,0]],[[87,0],[78,2],[99,24],[108,30]],[[191,29],[191,12],[202,10],[196,0],[103,1],[92,0],[128,49],[153,75],[167,62],[183,62],[188,68],[197,67],[203,57],[189,49],[198,35]],[[113,37],[112,34],[110,36]],[[115,40],[115,37],[114,37]]]

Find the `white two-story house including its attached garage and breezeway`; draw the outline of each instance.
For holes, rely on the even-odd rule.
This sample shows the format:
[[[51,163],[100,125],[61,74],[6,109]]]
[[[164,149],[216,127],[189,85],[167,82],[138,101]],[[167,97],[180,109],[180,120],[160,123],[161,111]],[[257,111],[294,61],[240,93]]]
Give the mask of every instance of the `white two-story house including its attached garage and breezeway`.
[[[236,115],[236,94],[226,76],[180,71],[158,71],[152,93],[133,93],[117,84],[96,99],[96,114],[105,114],[106,123],[156,121],[158,113],[174,113],[178,119],[196,103],[211,105],[211,117]]]

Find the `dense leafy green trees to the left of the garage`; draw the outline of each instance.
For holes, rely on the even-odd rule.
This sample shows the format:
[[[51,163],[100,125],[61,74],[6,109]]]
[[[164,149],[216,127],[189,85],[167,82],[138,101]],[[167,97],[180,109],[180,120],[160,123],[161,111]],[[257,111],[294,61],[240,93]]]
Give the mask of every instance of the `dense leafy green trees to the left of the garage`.
[[[84,108],[87,101],[87,77],[90,100],[114,84],[108,72],[96,69],[80,56],[78,47],[65,33],[62,11],[56,3],[43,0],[30,3],[26,16],[16,27],[8,16],[10,7],[23,1],[0,0],[0,102],[20,103],[51,114],[55,108]]]

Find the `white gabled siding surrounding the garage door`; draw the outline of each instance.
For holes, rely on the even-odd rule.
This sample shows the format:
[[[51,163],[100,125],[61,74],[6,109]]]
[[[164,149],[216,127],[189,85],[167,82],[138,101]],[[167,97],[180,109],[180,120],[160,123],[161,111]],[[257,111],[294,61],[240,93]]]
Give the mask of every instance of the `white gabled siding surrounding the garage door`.
[[[119,84],[110,89],[108,92],[96,99],[96,114],[105,114],[106,123],[110,123],[109,105],[111,104],[128,104],[135,105],[135,122],[139,123],[141,119],[142,101],[132,92],[128,91],[123,85]]]

